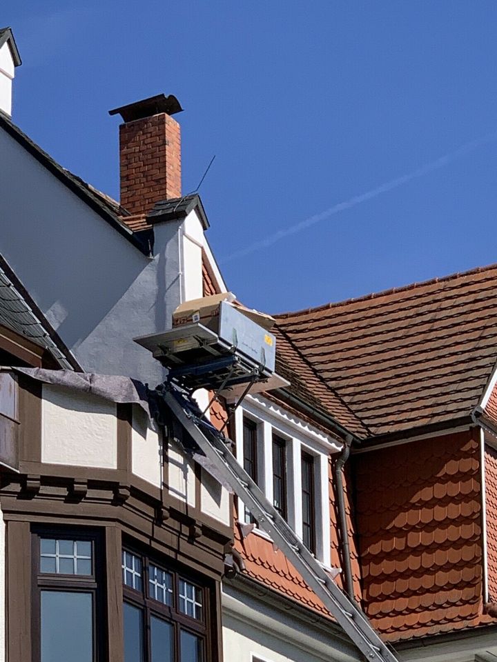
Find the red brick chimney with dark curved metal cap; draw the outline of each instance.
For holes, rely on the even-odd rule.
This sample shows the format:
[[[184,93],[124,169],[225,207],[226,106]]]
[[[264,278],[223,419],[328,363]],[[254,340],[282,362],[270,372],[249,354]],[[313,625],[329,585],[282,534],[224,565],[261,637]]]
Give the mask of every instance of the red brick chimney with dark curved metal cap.
[[[171,115],[182,110],[172,94],[109,110],[124,121],[119,126],[120,203],[130,214],[144,216],[156,202],[181,197],[181,136]]]

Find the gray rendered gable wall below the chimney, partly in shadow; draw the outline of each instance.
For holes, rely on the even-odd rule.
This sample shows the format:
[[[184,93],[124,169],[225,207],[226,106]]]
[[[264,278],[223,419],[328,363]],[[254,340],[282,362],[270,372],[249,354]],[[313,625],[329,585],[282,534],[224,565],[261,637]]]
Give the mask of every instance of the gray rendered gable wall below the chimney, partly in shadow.
[[[180,301],[178,222],[144,256],[1,129],[0,201],[0,252],[83,368],[162,381],[132,339]]]

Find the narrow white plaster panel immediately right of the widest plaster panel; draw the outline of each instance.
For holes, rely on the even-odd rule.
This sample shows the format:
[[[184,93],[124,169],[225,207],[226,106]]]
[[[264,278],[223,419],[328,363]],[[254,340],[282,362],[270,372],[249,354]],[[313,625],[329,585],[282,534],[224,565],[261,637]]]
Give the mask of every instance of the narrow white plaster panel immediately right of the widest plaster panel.
[[[149,427],[148,417],[141,407],[133,408],[131,448],[133,473],[159,488],[162,476],[162,444],[157,432]]]

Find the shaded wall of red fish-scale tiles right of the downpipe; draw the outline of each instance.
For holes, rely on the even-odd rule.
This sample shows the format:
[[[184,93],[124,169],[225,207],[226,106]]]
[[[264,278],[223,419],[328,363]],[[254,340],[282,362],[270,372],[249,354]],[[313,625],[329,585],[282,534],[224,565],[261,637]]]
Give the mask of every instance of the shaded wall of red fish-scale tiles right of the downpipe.
[[[353,457],[364,605],[387,639],[483,623],[478,432]]]

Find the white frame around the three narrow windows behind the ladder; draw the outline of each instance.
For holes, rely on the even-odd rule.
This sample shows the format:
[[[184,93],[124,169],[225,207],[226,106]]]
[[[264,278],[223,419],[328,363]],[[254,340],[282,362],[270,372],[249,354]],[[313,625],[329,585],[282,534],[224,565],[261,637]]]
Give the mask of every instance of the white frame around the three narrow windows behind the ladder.
[[[259,394],[248,396],[235,412],[237,460],[243,463],[243,419],[257,424],[257,441],[262,441],[257,453],[259,486],[273,502],[273,433],[287,441],[286,499],[289,525],[302,539],[302,451],[315,457],[315,540],[316,558],[327,568],[331,565],[329,457],[340,452],[342,444],[318,428],[298,419],[294,414],[264,399]],[[239,516],[242,521],[243,504]],[[264,532],[255,532],[267,537]]]

